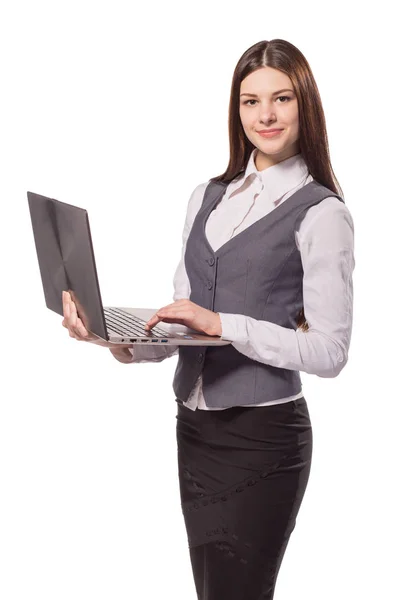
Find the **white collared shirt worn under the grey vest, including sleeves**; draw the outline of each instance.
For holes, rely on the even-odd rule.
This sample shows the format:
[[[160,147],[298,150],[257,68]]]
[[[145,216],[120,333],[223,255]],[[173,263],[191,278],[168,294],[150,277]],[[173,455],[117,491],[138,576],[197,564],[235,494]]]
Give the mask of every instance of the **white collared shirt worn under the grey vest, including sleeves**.
[[[258,171],[256,152],[254,149],[245,173],[230,182],[207,219],[206,236],[214,252],[313,180],[301,154]],[[208,184],[209,181],[199,184],[188,202],[181,260],[173,279],[174,301],[190,297],[184,264],[186,241]],[[348,207],[334,196],[311,206],[295,232],[295,242],[304,271],[303,304],[308,331],[220,312],[222,337],[232,340],[238,352],[253,360],[320,377],[336,377],[348,359],[353,320],[354,224]],[[135,345],[131,353],[132,362],[159,362],[178,354],[178,346]],[[265,405],[301,396],[302,392]],[[185,405],[192,410],[224,410],[205,405],[201,375]]]

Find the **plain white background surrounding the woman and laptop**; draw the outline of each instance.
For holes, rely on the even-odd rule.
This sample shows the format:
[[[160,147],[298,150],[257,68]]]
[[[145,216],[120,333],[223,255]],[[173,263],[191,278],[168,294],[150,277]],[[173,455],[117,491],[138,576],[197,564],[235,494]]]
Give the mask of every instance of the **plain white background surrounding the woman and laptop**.
[[[177,357],[125,365],[68,336],[44,303],[26,192],[88,210],[105,305],[171,303],[189,196],[227,166],[233,70],[274,38],[317,81],[356,259],[349,362],[301,374],[313,463],[275,598],[399,597],[394,34],[388,2],[2,3],[2,600],[196,598]]]

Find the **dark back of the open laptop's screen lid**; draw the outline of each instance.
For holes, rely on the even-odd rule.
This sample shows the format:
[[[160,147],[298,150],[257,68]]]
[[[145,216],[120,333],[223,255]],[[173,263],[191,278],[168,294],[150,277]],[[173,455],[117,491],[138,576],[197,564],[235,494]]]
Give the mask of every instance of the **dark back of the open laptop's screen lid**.
[[[109,339],[87,211],[27,192],[47,308],[63,316],[69,291],[86,329]]]

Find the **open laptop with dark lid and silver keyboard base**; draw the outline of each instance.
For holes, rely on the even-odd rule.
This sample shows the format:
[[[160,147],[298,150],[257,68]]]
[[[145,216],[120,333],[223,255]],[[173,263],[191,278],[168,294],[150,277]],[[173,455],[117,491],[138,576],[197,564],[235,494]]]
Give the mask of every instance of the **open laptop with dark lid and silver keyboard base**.
[[[86,329],[116,344],[231,343],[179,323],[160,321],[151,330],[144,329],[160,307],[103,306],[87,211],[33,192],[27,195],[47,308],[64,316],[62,291],[68,291]]]

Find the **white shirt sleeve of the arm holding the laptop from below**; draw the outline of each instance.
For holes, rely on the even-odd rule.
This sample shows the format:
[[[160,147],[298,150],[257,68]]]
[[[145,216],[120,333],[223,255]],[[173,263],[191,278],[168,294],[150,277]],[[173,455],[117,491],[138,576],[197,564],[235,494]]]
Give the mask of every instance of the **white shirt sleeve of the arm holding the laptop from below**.
[[[182,233],[181,258],[173,278],[174,302],[181,298],[189,298],[190,296],[190,284],[184,264],[186,241],[192,228],[193,220],[201,206],[204,191],[207,185],[208,181],[197,185],[193,190],[187,205],[185,223]],[[148,344],[134,344],[132,348],[129,348],[129,352],[132,354],[132,363],[161,362],[166,358],[177,355],[178,351],[179,346],[172,344],[152,344],[150,346]]]

